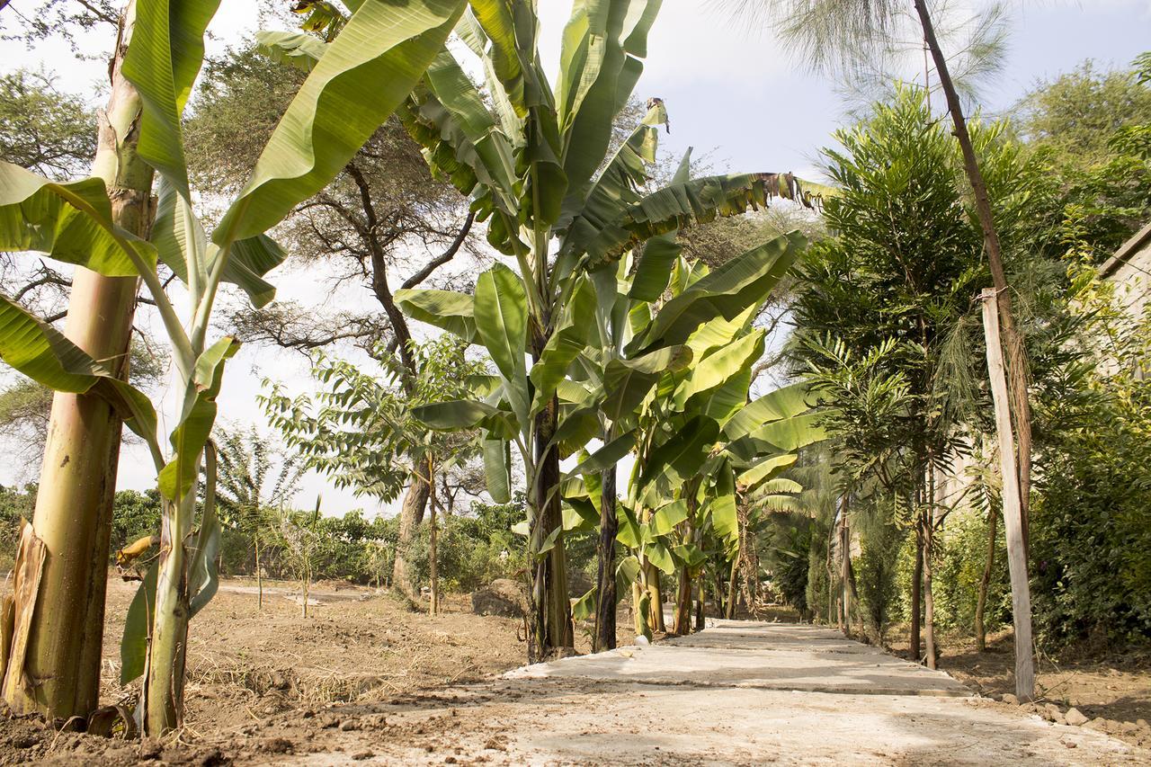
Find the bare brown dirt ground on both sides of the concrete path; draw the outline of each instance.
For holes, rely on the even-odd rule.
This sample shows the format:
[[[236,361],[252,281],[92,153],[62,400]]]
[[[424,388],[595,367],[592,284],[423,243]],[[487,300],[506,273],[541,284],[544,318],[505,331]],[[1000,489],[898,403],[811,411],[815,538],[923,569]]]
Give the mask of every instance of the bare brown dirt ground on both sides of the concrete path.
[[[529,692],[523,682],[496,681],[525,662],[523,622],[473,615],[466,597],[449,598],[444,613],[430,617],[373,590],[318,584],[312,593],[320,603],[304,620],[298,598],[287,594],[291,587],[272,584],[258,610],[251,582],[227,582],[193,620],[188,713],[180,732],[162,742],[123,742],[56,732],[35,717],[3,720],[0,764],[391,762],[411,761],[413,754],[428,764],[514,764],[503,720],[490,714],[503,712],[500,716],[510,717],[505,724],[517,722],[543,735],[552,726],[549,716],[590,692],[582,690],[584,682],[572,681],[543,690],[539,699],[538,688]],[[109,704],[135,693],[116,684],[122,618],[134,590],[135,584],[109,582],[104,685]],[[626,615],[620,617],[620,641],[626,644],[632,637]],[[772,617],[787,615],[777,612],[768,620]],[[587,652],[586,635],[579,644]],[[1009,691],[1011,637],[997,636],[990,645],[990,652],[976,654],[946,643],[940,667],[984,694]],[[1049,699],[1080,706],[1088,716],[1148,717],[1146,659],[1111,660],[1118,661],[1113,668],[1083,661],[1058,670],[1044,661],[1041,686]],[[628,706],[649,694],[624,688],[603,692],[611,692],[602,704],[604,715],[625,720]],[[785,693],[772,694],[787,707]],[[726,706],[721,699],[709,706]],[[632,729],[641,736],[643,726],[635,724]],[[683,761],[671,754],[668,760]]]

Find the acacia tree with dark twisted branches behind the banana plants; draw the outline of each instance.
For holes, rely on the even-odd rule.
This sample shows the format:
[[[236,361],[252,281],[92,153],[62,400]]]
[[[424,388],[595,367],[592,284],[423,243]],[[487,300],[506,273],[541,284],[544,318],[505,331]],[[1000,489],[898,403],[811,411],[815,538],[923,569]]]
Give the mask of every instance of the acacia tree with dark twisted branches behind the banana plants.
[[[311,15],[308,20],[308,28],[318,25]],[[328,26],[314,36],[261,35],[306,47],[323,45],[327,33]],[[193,177],[205,188],[238,191],[264,137],[313,66],[314,59],[289,55],[280,45],[211,60],[188,126],[199,147],[191,160]],[[402,363],[395,369],[399,386],[413,396],[422,375],[420,358],[410,349],[411,328],[394,291],[424,284],[458,255],[474,250],[468,237],[473,217],[464,208],[464,199],[450,184],[432,179],[420,147],[390,117],[331,183],[296,206],[279,230],[281,241],[298,253],[297,260],[330,269],[334,286],[363,284],[382,317],[380,311],[318,316],[312,309],[283,303],[241,306],[230,313],[237,337],[302,351],[353,341],[368,354],[382,342],[384,354]],[[398,286],[397,273],[406,273]],[[399,511],[392,583],[411,597],[404,550],[424,519],[430,489],[426,474],[411,474]]]

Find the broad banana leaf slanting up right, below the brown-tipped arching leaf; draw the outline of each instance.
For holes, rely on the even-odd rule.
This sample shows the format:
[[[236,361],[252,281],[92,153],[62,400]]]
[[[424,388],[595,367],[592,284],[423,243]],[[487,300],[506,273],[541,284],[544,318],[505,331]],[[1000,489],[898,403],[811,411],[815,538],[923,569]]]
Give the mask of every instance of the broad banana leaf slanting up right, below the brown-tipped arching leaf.
[[[628,356],[683,343],[703,322],[715,317],[733,319],[757,305],[791,268],[806,242],[799,231],[780,235],[701,278],[660,309],[643,334],[628,344]]]

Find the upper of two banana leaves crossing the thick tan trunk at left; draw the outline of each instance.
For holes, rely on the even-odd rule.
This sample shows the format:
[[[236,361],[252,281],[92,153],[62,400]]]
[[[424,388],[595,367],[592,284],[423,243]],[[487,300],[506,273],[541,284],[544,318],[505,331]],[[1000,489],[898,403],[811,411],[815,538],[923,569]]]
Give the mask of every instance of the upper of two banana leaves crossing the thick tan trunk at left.
[[[30,250],[107,276],[157,261],[155,248],[113,223],[100,179],[61,184],[0,161],[0,251]]]

